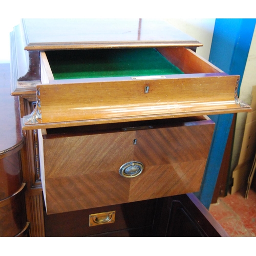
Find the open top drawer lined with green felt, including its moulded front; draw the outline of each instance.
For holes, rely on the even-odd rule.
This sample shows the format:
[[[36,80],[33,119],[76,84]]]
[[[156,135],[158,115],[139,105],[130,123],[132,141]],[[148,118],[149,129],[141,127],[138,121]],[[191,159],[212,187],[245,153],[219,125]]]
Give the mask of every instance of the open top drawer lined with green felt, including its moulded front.
[[[93,54],[88,57],[90,51]],[[122,56],[123,52],[126,57],[113,63],[112,55]],[[25,130],[250,110],[237,96],[239,76],[227,75],[183,47],[40,54],[42,84],[37,86],[36,110],[24,117]],[[123,65],[129,55],[141,56],[135,58],[137,62],[131,57]],[[154,61],[148,55],[154,55]],[[91,63],[85,66],[87,58]],[[96,65],[98,60],[102,66]]]

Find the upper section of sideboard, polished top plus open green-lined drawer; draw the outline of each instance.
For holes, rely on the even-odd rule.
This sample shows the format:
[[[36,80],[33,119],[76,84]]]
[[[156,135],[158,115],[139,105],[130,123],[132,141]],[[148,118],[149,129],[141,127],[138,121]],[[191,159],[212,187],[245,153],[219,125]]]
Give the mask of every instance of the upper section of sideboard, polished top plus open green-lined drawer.
[[[24,130],[250,110],[239,75],[162,20],[24,19],[12,37],[12,94],[37,101]]]

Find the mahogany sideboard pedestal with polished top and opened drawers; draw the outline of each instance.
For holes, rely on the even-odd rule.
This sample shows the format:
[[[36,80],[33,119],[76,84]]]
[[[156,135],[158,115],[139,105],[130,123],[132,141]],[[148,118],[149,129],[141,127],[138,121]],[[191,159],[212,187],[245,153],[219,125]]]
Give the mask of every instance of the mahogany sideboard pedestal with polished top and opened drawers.
[[[191,193],[214,132],[206,115],[250,108],[239,76],[196,55],[200,46],[156,20],[14,28],[15,189],[29,236],[227,236]]]

